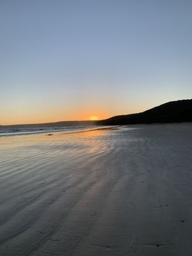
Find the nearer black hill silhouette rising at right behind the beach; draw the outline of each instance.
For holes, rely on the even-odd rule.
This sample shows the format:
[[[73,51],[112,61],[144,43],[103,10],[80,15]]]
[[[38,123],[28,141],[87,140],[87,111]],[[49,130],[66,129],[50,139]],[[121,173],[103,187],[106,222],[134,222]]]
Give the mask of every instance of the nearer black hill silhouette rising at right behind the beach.
[[[192,122],[192,99],[164,103],[147,111],[113,116],[97,121],[97,125],[127,125]]]

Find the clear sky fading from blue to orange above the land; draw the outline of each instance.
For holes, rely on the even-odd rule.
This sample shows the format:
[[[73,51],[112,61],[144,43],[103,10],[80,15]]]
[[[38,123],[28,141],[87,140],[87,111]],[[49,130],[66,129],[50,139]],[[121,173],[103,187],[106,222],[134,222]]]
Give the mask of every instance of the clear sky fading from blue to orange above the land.
[[[1,0],[0,124],[191,99],[191,31],[191,0]]]

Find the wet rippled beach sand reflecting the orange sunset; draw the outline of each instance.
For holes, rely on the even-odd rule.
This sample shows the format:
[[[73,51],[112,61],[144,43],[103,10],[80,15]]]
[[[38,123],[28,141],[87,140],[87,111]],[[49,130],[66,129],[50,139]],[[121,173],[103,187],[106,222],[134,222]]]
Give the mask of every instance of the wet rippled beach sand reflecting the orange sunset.
[[[1,256],[192,255],[192,125],[1,138]]]

